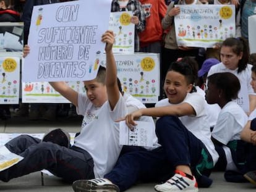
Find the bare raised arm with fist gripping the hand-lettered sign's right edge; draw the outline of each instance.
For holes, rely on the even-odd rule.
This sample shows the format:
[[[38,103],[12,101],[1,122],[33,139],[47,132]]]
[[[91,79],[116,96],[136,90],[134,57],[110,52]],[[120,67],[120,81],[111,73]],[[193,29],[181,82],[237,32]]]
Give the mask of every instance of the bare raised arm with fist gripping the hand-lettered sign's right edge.
[[[114,33],[113,31],[106,31],[102,37],[101,41],[106,43],[106,90],[108,93],[108,101],[111,109],[113,110],[119,100],[120,92],[117,85],[117,72],[116,72],[116,62],[114,61],[114,55],[112,47],[114,44]]]

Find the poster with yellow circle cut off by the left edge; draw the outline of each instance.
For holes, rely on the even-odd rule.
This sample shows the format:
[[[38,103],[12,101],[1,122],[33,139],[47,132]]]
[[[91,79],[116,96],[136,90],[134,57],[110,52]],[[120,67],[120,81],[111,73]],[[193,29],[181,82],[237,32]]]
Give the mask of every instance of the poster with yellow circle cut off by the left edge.
[[[0,55],[0,104],[19,104],[20,57]]]

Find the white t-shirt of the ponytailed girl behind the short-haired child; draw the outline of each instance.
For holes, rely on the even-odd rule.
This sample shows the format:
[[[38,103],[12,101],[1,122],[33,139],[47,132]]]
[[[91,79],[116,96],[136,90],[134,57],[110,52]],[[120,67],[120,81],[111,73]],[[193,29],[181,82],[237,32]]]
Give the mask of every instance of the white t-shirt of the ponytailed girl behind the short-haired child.
[[[238,99],[236,99],[237,104],[244,109],[245,112],[249,112],[249,94],[256,95],[250,81],[252,80],[252,65],[248,64],[247,67],[242,70],[242,72],[237,73],[236,70],[230,70],[221,62],[220,64],[213,65],[208,72],[208,77],[214,73],[230,72],[236,75],[241,84],[241,90],[238,93]]]

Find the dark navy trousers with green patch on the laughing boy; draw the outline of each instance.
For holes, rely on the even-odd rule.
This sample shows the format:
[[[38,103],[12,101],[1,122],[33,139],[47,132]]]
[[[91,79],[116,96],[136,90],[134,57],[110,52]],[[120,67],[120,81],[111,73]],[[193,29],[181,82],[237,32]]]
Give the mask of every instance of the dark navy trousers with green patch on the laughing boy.
[[[124,191],[139,181],[165,181],[174,174],[177,165],[189,165],[196,177],[210,175],[213,167],[210,154],[202,141],[187,130],[177,117],[158,119],[156,135],[160,148],[123,154],[105,178]]]

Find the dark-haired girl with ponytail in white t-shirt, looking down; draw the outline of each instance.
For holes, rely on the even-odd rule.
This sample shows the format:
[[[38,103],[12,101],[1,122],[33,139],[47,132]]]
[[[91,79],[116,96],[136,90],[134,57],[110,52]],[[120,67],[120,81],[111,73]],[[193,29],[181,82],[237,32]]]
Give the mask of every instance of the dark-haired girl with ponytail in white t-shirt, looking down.
[[[250,114],[256,107],[256,94],[250,86],[252,65],[247,64],[249,60],[248,44],[243,38],[228,38],[223,41],[220,57],[221,63],[212,66],[208,76],[223,72],[236,75],[240,81],[241,90],[235,101],[247,114]]]

